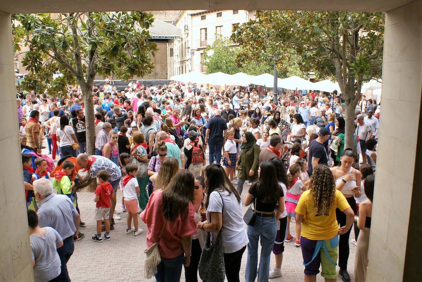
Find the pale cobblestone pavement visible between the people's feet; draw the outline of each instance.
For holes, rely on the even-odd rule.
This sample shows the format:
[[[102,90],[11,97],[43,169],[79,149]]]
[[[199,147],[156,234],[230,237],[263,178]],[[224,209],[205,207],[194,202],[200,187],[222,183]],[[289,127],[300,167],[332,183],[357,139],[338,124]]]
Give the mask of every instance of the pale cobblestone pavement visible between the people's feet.
[[[245,189],[247,189],[245,185]],[[243,193],[242,201],[245,193]],[[116,210],[120,211],[122,193],[118,189]],[[127,212],[120,214],[122,220],[117,221],[115,229],[111,231],[111,240],[97,243],[91,240],[96,233],[94,220],[95,203],[94,193],[79,192],[78,205],[81,210],[81,219],[86,222],[85,227],[80,230],[85,233],[85,238],[75,243],[75,251],[68,262],[70,278],[74,282],[79,281],[154,281],[145,279],[143,263],[146,248],[146,224],[139,220],[139,227],[144,231],[141,235],[133,236],[125,233]],[[246,212],[246,207],[243,207]],[[290,230],[294,234],[295,223],[292,222]],[[353,236],[353,231],[351,237]],[[354,278],[354,257],[356,247],[350,245],[349,274]],[[302,253],[300,247],[294,246],[294,241],[284,243],[285,251],[283,258],[283,276],[270,279],[271,282],[296,282],[303,281]],[[247,252],[247,251],[246,251]],[[246,266],[246,252],[243,255],[240,279],[245,281],[244,271]],[[271,268],[274,267],[274,256],[271,255]],[[338,271],[338,268],[337,268]],[[199,277],[198,277],[199,280]],[[184,282],[184,271],[181,281]],[[200,281],[200,280],[199,280]],[[323,277],[317,275],[317,281],[324,281]],[[337,281],[341,281],[338,276]],[[353,281],[353,280],[352,280]]]

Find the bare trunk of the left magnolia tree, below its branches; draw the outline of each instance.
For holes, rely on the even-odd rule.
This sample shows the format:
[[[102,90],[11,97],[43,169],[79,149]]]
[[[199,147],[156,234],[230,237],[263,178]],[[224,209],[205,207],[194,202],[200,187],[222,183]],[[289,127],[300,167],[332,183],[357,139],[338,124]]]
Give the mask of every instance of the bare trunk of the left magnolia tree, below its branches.
[[[87,154],[95,154],[95,124],[94,124],[94,102],[92,101],[92,86],[81,87],[84,98],[85,121],[87,124]]]

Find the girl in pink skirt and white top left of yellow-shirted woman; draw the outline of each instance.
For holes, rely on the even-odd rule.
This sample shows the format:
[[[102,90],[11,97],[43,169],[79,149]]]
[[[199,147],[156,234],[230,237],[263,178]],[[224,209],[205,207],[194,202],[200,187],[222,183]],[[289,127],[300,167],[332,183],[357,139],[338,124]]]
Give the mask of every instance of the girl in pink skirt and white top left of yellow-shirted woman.
[[[300,192],[305,191],[306,187],[303,185],[302,180],[300,179],[300,174],[302,169],[297,163],[289,167],[289,173],[287,174],[289,179],[289,187],[287,187],[286,193],[286,210],[287,210],[287,238],[286,242],[295,240],[295,236],[290,234],[290,219],[296,216],[295,209],[298,205],[300,198]],[[302,229],[302,224],[296,222],[296,241],[295,246],[300,247],[300,230]]]

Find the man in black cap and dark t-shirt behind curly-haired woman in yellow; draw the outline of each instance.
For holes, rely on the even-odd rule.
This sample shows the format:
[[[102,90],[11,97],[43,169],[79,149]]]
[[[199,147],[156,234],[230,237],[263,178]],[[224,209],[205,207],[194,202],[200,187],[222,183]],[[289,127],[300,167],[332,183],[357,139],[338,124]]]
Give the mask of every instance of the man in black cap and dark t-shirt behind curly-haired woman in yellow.
[[[308,173],[312,174],[314,168],[319,165],[327,165],[328,153],[325,150],[324,142],[330,138],[331,132],[327,128],[321,128],[318,138],[311,141],[308,150]]]

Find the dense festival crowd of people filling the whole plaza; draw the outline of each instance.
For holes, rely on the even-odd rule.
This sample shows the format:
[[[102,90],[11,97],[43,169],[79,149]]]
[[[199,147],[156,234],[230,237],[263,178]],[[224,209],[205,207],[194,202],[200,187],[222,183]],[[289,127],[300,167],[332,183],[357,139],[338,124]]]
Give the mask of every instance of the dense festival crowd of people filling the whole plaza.
[[[267,282],[282,275],[284,244],[292,241],[302,249],[305,281],[316,281],[320,267],[326,281],[335,281],[338,263],[347,282],[353,224],[355,281],[365,281],[381,108],[376,101],[362,96],[354,146],[344,148],[344,100],[335,92],[274,95],[252,85],[220,92],[133,81],[118,91],[106,81],[93,87],[92,99],[95,154],[88,155],[78,87],[60,98],[17,97],[36,281],[70,281],[66,263],[74,241],[85,236],[81,217],[92,216],[81,213],[77,191],[97,182],[92,241],[111,240],[123,212],[122,232],[138,236],[140,214],[147,247],[158,246],[161,262],[147,257],[145,266],[146,276],[157,281],[179,281],[184,266],[186,281],[197,281],[198,271],[207,280],[212,267],[229,282]],[[44,146],[47,155],[41,154]],[[242,206],[251,207],[252,220]],[[210,255],[210,244],[211,256],[222,258],[215,265],[218,260],[201,259]]]

